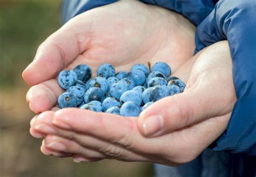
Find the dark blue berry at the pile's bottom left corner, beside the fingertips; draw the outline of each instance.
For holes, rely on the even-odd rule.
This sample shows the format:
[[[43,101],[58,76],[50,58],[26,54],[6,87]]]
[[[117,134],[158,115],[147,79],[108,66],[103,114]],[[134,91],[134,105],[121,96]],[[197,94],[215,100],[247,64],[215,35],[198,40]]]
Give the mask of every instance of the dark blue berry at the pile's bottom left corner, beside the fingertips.
[[[64,92],[58,97],[59,108],[77,107],[77,98],[74,94]]]

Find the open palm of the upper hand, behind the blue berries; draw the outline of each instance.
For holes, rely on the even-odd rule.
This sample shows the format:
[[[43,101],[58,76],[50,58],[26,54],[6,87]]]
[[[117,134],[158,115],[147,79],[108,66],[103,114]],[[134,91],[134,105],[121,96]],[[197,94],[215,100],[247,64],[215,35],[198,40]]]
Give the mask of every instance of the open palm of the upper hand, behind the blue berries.
[[[194,26],[188,20],[139,2],[118,2],[93,9],[74,18],[66,27],[69,25],[91,29],[90,40],[83,41],[87,37],[83,31],[78,34],[85,51],[69,68],[86,63],[95,71],[101,63],[108,62],[118,71],[129,70],[135,63],[165,61],[175,70],[194,50]]]

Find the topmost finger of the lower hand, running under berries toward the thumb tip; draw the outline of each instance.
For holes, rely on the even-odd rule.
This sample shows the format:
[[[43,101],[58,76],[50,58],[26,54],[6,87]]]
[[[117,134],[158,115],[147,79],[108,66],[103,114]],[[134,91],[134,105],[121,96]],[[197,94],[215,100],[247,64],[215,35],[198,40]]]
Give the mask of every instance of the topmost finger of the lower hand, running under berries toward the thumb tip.
[[[55,112],[52,123],[59,128],[77,132],[91,132],[100,138],[107,133],[111,137],[105,140],[122,139],[131,132],[133,122],[122,116],[66,108]],[[119,132],[119,133],[116,133]]]

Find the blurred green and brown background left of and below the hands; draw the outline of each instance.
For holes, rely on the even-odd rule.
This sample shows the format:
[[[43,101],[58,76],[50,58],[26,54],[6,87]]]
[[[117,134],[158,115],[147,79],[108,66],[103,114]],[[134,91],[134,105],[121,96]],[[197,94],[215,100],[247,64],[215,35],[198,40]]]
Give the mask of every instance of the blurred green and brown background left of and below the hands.
[[[94,1],[94,0],[93,0]],[[41,153],[29,134],[34,116],[25,101],[23,69],[60,26],[60,0],[0,0],[0,176],[153,176],[150,163],[75,163]]]

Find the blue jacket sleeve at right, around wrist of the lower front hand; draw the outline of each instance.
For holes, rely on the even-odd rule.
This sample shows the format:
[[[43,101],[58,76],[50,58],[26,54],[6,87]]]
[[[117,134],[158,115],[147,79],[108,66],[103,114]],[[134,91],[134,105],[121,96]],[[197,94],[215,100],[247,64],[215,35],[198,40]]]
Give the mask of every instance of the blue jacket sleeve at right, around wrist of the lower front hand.
[[[228,40],[238,101],[213,150],[256,155],[256,1],[225,0],[198,26],[197,51]]]

